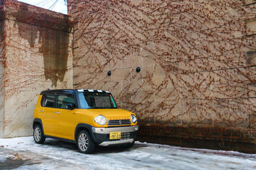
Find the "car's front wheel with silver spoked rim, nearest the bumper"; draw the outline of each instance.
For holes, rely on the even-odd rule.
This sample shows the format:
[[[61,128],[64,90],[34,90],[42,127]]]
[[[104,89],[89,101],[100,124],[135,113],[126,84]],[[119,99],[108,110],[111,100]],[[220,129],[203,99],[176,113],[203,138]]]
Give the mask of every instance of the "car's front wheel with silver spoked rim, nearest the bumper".
[[[77,135],[77,148],[81,153],[93,153],[95,143],[87,131],[80,131]]]

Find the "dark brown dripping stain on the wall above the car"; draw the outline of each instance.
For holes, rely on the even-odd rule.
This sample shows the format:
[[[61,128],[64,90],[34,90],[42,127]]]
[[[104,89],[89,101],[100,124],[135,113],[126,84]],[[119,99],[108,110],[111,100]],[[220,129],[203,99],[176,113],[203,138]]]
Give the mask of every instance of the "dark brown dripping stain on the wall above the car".
[[[26,11],[25,14],[24,11]],[[23,16],[22,20],[26,20],[24,16],[29,17],[31,15],[34,15],[34,13],[28,10],[28,6],[21,6],[20,11],[16,13],[18,17]],[[35,47],[35,43],[41,44],[40,48],[38,48],[38,52],[43,53],[44,56],[45,79],[51,80],[52,87],[56,87],[57,81],[62,82],[67,72],[70,32],[44,27],[44,23],[42,23],[43,18],[45,17],[45,23],[47,25],[51,18],[49,18],[49,15],[42,15],[40,17],[42,17],[40,26],[26,24],[28,22],[22,22],[20,20],[15,21],[15,25],[19,28],[19,36],[28,40],[31,48]],[[54,22],[54,20],[52,20],[52,22]]]

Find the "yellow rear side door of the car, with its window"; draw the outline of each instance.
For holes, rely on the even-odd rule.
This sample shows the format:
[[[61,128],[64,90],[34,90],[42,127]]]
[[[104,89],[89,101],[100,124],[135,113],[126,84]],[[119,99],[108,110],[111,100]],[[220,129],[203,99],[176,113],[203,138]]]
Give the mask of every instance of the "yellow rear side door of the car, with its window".
[[[41,102],[42,124],[44,134],[56,136],[58,132],[59,114],[56,113],[56,96],[54,94],[44,94]]]

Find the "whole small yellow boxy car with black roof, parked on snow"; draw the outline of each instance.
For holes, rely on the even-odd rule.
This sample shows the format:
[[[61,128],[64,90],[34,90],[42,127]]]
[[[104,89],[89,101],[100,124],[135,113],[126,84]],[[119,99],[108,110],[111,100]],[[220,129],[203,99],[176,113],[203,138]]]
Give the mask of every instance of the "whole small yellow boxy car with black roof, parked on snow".
[[[104,90],[45,90],[33,120],[36,143],[63,139],[76,143],[81,153],[92,153],[95,145],[132,147],[138,128],[136,115],[118,108]]]

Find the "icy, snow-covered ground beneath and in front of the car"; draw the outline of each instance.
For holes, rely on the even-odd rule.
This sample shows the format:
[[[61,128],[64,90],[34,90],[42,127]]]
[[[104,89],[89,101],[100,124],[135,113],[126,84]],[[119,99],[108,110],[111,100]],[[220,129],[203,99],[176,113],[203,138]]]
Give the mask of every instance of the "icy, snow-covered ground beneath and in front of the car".
[[[256,155],[136,142],[79,153],[73,143],[33,137],[0,139],[0,169],[256,169]]]

